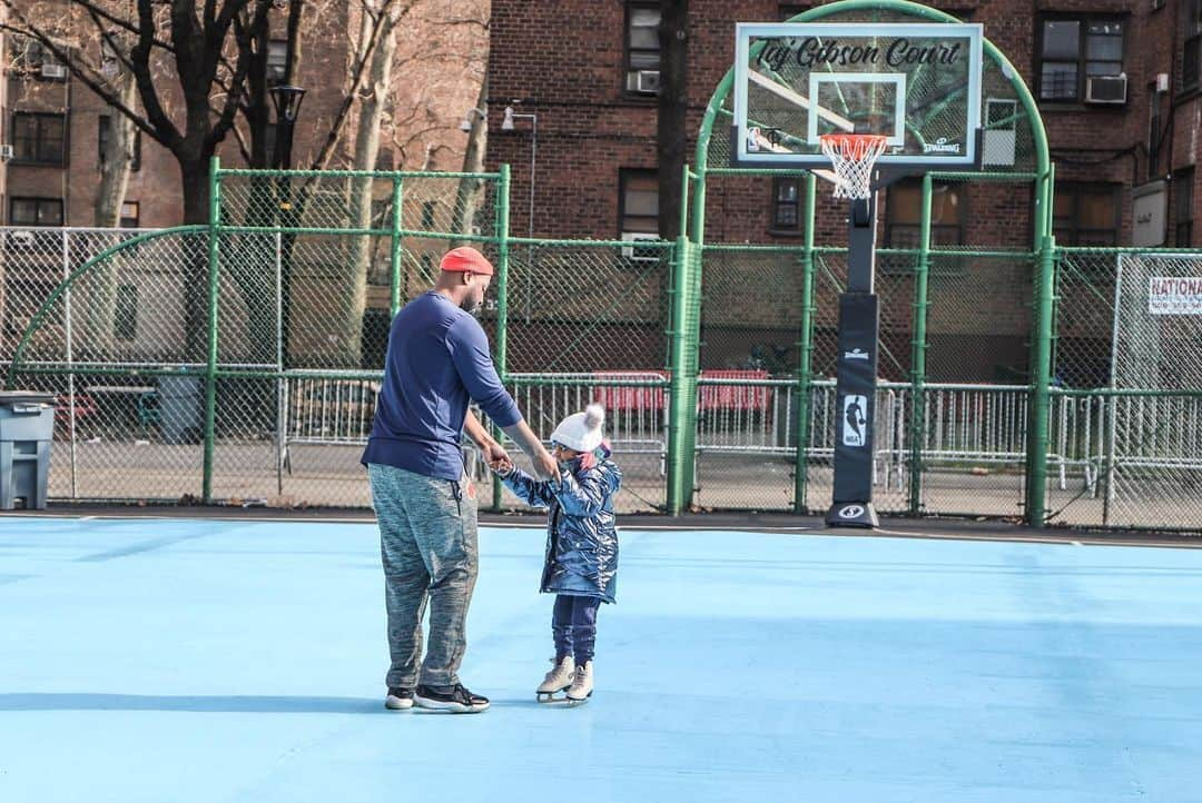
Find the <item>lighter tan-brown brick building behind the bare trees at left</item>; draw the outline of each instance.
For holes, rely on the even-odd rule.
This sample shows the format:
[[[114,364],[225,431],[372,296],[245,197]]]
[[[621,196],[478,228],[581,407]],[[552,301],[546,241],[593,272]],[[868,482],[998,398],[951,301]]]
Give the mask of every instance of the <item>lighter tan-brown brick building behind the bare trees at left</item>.
[[[359,26],[361,4],[309,4],[308,7],[302,58],[293,82],[307,90],[293,139],[294,168],[311,167],[328,137],[353,74],[352,49],[358,40],[347,36],[346,31],[363,30]],[[53,0],[30,0],[26,14],[54,18],[61,8],[55,8]],[[77,14],[81,30],[95,38],[94,26],[82,8],[61,11],[69,12]],[[0,6],[0,14],[4,13],[5,7]],[[285,14],[273,13],[278,17],[272,19],[268,44],[269,85],[282,80],[287,47]],[[454,8],[439,0],[406,4],[403,24],[395,31],[392,80],[382,103],[379,155],[375,164],[368,167],[385,170],[463,168],[469,139],[476,132],[465,132],[462,124],[465,114],[468,122],[472,121],[469,110],[478,103],[487,59],[487,20],[484,0],[466,0],[456,4]],[[34,22],[37,24],[36,19]],[[87,49],[95,48],[94,41],[83,47],[84,59],[99,55]],[[168,116],[180,126],[178,82],[173,76],[162,74],[156,85]],[[352,107],[351,121],[343,128],[339,146],[328,161],[332,169],[355,167],[358,108]],[[32,312],[61,281],[65,253],[78,262],[118,241],[107,234],[81,233],[70,235],[75,239],[65,246],[59,232],[48,230],[52,227],[96,226],[102,143],[113,113],[49,49],[32,38],[0,31],[0,226],[18,229],[0,234],[0,354],[7,354]],[[246,144],[245,120],[239,118],[236,126]],[[133,151],[129,186],[120,208],[121,228],[178,226],[183,222],[183,198],[177,160],[144,133],[136,134]],[[226,167],[246,164],[234,132],[221,143],[218,155]],[[371,191],[373,215],[377,221],[386,220],[392,184],[377,181]],[[421,182],[409,186],[405,196],[409,223],[415,227],[448,226],[453,203],[423,197],[423,192],[429,194],[433,190]],[[323,221],[323,224],[339,222]],[[412,256],[418,247],[434,250],[442,245],[441,241],[406,244],[406,253]],[[436,254],[430,257],[435,262],[436,258]],[[387,248],[377,247],[369,259],[367,308],[362,322],[363,360],[365,365],[376,365],[382,360],[389,319]],[[419,265],[427,262],[423,257]],[[339,305],[331,299],[338,298],[347,283],[345,270],[338,274],[332,265],[345,269],[345,264],[341,257],[328,257],[326,250],[313,246],[302,250],[294,269],[307,276],[307,290],[297,302],[296,314],[323,323],[296,328],[297,349],[317,348],[311,342],[316,337],[314,332],[338,310]],[[167,302],[169,294],[163,294],[162,281],[153,272],[131,275],[119,288],[121,312],[115,317],[125,324],[115,326],[119,330],[117,340],[125,348],[137,348],[145,359],[159,359],[177,340],[178,332],[156,328],[154,323],[179,318],[178,310],[156,316],[149,311],[139,313],[137,308],[138,301],[148,298]],[[417,281],[424,283],[427,277]],[[338,323],[331,322],[325,328]]]

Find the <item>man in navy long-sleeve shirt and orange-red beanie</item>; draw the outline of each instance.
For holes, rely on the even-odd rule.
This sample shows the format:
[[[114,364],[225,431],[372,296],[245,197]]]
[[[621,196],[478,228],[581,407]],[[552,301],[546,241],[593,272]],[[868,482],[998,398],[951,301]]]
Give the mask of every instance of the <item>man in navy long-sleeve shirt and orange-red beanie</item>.
[[[493,266],[475,248],[442,257],[438,283],[397,314],[385,379],[363,463],[380,525],[388,611],[392,709],[475,713],[488,699],[459,683],[468,606],[476,585],[476,491],[460,449],[466,432],[493,462],[506,456],[468,411],[475,401],[534,461],[545,479],[555,460],[518,413],[496,376],[488,337],[472,313],[484,301]],[[422,618],[430,637],[422,660]]]

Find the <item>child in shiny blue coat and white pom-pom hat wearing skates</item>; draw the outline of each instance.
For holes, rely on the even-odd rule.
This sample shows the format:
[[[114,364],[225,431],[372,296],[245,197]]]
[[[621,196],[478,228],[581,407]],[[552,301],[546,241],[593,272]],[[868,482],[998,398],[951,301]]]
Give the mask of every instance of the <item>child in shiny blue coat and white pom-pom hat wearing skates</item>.
[[[538,702],[579,705],[593,694],[597,609],[614,601],[618,581],[613,497],[621,486],[621,469],[609,460],[603,426],[605,408],[590,405],[555,427],[551,436],[559,461],[555,479],[537,480],[508,461],[492,465],[518,498],[547,509],[541,591],[555,594],[551,621],[555,658],[537,689]]]

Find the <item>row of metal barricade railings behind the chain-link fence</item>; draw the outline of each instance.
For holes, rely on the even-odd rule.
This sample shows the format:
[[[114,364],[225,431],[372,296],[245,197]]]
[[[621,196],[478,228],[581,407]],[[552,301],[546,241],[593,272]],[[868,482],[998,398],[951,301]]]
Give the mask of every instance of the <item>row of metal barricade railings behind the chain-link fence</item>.
[[[282,390],[281,468],[291,444],[362,445],[371,431],[380,382],[290,377]],[[607,408],[607,432],[621,454],[654,455],[666,468],[668,385],[660,372],[522,374],[508,389],[536,432],[551,432],[591,401]],[[807,460],[834,454],[838,400],[833,380],[811,386]],[[924,468],[959,471],[982,463],[1023,466],[1029,390],[1024,385],[924,385],[923,441],[911,438],[914,388],[877,386],[874,481],[904,487],[917,459]],[[698,454],[795,455],[798,414],[792,379],[702,377],[698,380]],[[1196,396],[1052,397],[1048,461],[1067,489],[1079,477],[1097,496],[1113,493],[1115,472],[1202,472],[1202,398]],[[1107,480],[1103,483],[1103,480]]]

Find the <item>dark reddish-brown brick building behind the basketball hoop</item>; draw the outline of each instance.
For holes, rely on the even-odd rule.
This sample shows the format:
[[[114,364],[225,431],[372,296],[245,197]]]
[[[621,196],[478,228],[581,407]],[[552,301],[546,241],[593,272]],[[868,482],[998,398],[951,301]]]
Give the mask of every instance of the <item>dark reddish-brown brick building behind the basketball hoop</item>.
[[[690,2],[690,162],[706,104],[733,62],[736,22],[776,22],[814,5],[819,4]],[[1054,230],[1060,245],[1196,242],[1200,0],[953,0],[933,5],[981,23],[1031,89],[1057,164]],[[514,233],[630,239],[656,232],[657,22],[654,1],[494,4],[488,163],[513,166],[513,198],[523,199],[513,204]],[[529,124],[499,132],[501,109],[511,103],[519,113],[537,116],[532,220],[524,199],[530,191],[534,132]],[[799,175],[713,182],[707,242],[799,242],[801,182]],[[826,190],[820,187],[823,198]],[[942,184],[936,185],[936,245],[1030,247],[1030,185]],[[879,245],[915,244],[918,199],[912,182],[888,190]],[[845,244],[841,217],[840,209],[820,205],[819,244]],[[885,263],[879,262],[882,294],[891,282],[902,281],[889,276]],[[963,272],[971,275],[944,280],[958,301],[933,306],[934,374],[990,380],[1022,377],[1030,326],[1029,266],[990,272],[974,265]],[[778,276],[787,283],[787,276]],[[752,281],[734,268],[727,272],[707,268],[706,298],[721,299],[721,304],[703,308],[703,366],[743,366],[757,349],[793,347],[796,332],[789,328],[797,318],[791,295],[796,288],[783,287],[764,299],[762,293],[743,289]],[[984,299],[993,307],[989,314],[977,306]],[[894,350],[902,355],[882,371],[897,378],[908,367],[909,307],[910,298],[899,292],[885,299],[882,308],[886,346],[893,337]],[[946,342],[954,341],[954,348],[940,348],[945,336],[940,314]],[[833,320],[822,316],[820,310],[820,358],[823,337],[829,341],[833,334]],[[892,330],[891,316],[900,320]],[[1061,331],[1061,336],[1073,335]],[[518,341],[511,346],[516,353],[520,352]],[[649,365],[654,359],[654,354],[645,355]],[[795,362],[785,358],[784,364]]]

